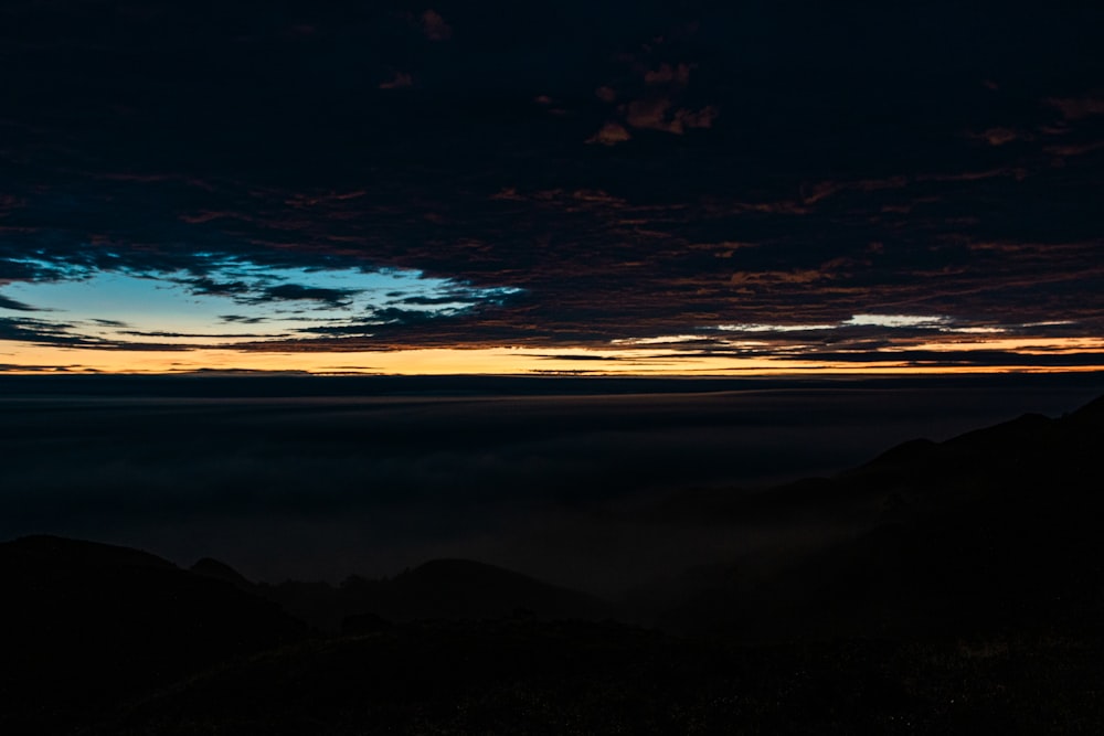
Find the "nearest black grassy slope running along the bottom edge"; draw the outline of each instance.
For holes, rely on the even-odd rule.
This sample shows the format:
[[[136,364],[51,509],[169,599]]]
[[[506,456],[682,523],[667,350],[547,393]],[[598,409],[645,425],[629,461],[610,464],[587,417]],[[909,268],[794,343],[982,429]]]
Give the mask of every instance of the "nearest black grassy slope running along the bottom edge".
[[[104,736],[1100,733],[1098,641],[730,647],[609,623],[403,625],[238,660]]]

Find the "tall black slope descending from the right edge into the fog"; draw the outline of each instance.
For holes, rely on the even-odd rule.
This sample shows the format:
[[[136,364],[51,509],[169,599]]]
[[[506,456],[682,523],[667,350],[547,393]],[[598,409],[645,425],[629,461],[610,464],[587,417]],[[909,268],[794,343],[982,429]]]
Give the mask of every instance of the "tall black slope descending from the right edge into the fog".
[[[1060,419],[1025,415],[737,498],[730,519],[819,516],[857,531],[754,587],[732,567],[665,622],[747,638],[1098,627],[1102,416],[1104,401]]]

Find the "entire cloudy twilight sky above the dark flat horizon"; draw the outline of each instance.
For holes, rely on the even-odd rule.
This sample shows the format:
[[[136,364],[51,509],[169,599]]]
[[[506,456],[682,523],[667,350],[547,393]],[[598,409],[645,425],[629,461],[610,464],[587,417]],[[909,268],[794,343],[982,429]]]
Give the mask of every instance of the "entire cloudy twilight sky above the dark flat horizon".
[[[1104,7],[9,0],[0,371],[1104,366]]]

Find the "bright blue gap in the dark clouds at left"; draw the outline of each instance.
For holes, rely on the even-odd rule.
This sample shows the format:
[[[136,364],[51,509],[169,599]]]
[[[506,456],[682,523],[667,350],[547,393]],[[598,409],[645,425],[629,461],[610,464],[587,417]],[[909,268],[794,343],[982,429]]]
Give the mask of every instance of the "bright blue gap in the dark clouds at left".
[[[213,254],[198,254],[197,267],[176,271],[28,265],[51,278],[9,282],[0,290],[3,296],[39,310],[39,319],[73,326],[74,333],[125,342],[226,344],[238,339],[309,338],[312,329],[321,334],[346,326],[364,326],[364,332],[371,332],[373,324],[394,322],[396,313],[447,318],[500,303],[520,291],[475,287],[408,269],[270,267]],[[204,292],[200,279],[235,288]],[[278,290],[282,286],[299,289]],[[285,297],[311,298],[272,298],[273,289]],[[164,333],[195,337],[172,339]]]

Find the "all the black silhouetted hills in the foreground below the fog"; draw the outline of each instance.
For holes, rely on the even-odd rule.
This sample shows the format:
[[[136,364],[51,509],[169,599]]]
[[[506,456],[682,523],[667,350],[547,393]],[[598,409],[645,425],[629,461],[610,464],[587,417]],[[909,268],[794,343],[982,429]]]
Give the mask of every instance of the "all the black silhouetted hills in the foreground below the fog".
[[[829,479],[641,513],[816,519],[816,550],[603,601],[435,561],[257,585],[0,544],[4,734],[1101,733],[1104,399]]]

